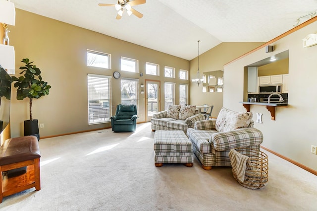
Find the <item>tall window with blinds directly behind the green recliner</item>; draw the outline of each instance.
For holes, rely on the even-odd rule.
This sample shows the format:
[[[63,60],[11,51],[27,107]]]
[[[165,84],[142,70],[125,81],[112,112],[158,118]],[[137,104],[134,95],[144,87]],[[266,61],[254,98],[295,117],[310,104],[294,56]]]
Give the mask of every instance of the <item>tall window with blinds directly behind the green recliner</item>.
[[[138,79],[121,79],[121,104],[137,105],[138,103]]]

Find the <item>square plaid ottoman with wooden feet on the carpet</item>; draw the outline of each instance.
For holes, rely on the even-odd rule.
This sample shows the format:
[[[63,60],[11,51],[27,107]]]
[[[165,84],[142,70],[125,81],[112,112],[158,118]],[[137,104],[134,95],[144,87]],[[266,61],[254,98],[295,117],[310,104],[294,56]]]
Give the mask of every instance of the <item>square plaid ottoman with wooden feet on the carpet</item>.
[[[163,163],[184,163],[187,167],[194,164],[193,145],[184,131],[156,131],[154,151],[157,167]]]

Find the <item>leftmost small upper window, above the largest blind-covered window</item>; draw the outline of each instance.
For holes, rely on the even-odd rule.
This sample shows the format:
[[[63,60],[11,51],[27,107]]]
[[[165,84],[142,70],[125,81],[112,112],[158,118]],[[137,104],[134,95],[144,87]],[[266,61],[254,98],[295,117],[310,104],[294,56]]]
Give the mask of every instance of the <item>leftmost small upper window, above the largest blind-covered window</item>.
[[[110,54],[87,50],[87,66],[111,69]]]

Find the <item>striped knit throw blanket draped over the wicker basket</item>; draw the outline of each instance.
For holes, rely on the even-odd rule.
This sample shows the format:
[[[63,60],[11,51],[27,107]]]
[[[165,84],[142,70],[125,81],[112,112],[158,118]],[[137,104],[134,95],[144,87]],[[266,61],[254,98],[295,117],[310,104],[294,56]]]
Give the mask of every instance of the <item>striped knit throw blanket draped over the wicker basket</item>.
[[[228,155],[230,158],[232,169],[236,173],[238,180],[243,182],[244,175],[246,172],[246,164],[247,164],[247,160],[249,159],[249,157],[237,152],[234,149],[230,149]]]

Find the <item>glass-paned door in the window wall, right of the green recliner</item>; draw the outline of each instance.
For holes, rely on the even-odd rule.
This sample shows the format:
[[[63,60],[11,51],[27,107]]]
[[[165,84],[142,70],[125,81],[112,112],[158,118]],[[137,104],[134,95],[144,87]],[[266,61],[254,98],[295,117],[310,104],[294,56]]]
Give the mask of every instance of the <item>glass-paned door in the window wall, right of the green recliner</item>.
[[[146,90],[146,121],[150,122],[154,113],[160,110],[160,81],[145,80]]]

